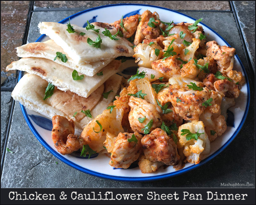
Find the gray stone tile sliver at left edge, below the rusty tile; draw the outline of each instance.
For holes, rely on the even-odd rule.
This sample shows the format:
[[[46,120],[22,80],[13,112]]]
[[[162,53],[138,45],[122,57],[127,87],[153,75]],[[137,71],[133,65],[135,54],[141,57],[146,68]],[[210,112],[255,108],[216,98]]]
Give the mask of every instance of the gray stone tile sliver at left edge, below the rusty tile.
[[[11,92],[1,92],[1,158],[11,109]]]

